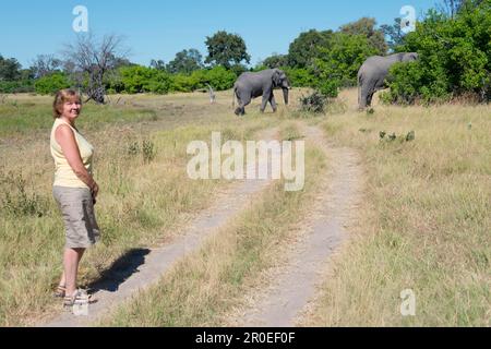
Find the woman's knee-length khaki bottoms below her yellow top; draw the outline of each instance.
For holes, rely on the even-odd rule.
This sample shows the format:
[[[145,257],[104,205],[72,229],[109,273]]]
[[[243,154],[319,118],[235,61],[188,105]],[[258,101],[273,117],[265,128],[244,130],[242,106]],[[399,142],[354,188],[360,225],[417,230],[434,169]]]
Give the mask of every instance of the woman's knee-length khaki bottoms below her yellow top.
[[[88,189],[53,186],[52,194],[60,207],[67,229],[67,249],[88,249],[100,239]]]

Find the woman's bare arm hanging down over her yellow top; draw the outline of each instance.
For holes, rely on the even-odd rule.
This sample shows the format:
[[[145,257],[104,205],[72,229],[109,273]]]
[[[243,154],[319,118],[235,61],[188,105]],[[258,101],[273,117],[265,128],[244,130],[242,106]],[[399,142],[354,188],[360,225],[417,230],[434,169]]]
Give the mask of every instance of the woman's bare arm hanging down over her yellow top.
[[[75,135],[73,134],[72,129],[70,129],[70,127],[64,124],[59,125],[55,132],[55,139],[61,146],[61,151],[63,152],[64,157],[67,158],[67,161],[69,163],[70,167],[73,169],[73,172],[75,172],[76,177],[82,182],[87,184],[87,186],[93,192],[94,196],[97,196],[99,190],[98,185],[92,178],[91,173],[88,173],[87,169],[85,168],[82,161],[79,145],[76,144]]]

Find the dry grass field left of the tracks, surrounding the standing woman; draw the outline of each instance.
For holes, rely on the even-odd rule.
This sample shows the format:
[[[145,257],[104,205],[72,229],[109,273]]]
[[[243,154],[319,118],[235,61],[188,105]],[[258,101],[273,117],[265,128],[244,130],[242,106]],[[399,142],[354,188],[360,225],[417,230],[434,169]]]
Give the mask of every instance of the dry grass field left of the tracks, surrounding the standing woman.
[[[17,105],[29,110],[25,118],[47,121],[10,133],[5,131],[1,139],[2,326],[29,325],[39,316],[58,311],[51,290],[61,273],[64,243],[62,221],[51,196],[53,165],[49,129],[46,129],[52,123],[51,98],[36,97],[28,101],[29,96],[9,97],[14,98],[19,98]],[[125,98],[131,98],[133,105],[87,106],[80,120],[81,129],[97,152],[95,177],[101,196],[96,209],[103,228],[101,243],[83,261],[82,285],[99,278],[128,251],[172,239],[179,225],[206,207],[213,192],[227,185],[188,179],[189,142],[209,142],[212,131],[246,140],[274,125],[270,115],[260,116],[254,111],[249,118],[237,119],[225,94],[213,106],[200,94],[121,99]],[[156,117],[133,119],[141,110]],[[121,118],[116,118],[117,115]],[[0,123],[5,118],[11,115],[0,110]]]

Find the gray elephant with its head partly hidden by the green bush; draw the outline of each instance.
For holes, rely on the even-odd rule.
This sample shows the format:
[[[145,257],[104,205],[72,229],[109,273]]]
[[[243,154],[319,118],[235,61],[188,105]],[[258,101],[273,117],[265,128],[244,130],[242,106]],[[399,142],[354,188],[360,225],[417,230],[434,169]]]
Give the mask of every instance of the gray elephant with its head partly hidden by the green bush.
[[[373,56],[367,59],[358,72],[358,105],[360,109],[370,107],[375,92],[386,88],[385,79],[392,65],[399,62],[414,62],[418,58],[416,52],[402,52],[387,57]]]

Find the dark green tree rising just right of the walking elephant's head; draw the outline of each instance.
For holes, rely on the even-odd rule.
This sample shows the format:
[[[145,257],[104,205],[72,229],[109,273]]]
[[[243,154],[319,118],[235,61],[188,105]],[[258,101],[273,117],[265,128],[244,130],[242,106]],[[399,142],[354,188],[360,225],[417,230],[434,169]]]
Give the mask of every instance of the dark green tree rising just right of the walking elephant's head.
[[[320,57],[319,48],[328,47],[332,35],[332,31],[318,32],[310,29],[309,32],[301,33],[290,44],[288,65],[300,69],[311,65]]]

